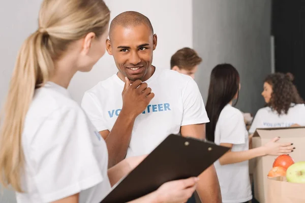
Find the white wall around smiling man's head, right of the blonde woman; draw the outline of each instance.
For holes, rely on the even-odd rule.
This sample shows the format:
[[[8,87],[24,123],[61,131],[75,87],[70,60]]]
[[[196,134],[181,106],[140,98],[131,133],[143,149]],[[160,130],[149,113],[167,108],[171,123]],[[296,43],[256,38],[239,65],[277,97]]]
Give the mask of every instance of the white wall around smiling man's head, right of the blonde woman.
[[[182,47],[192,47],[192,1],[191,0],[106,0],[111,20],[124,11],[137,11],[147,16],[158,36],[153,64],[170,68],[170,57]],[[175,8],[174,8],[175,7]],[[112,56],[105,56],[89,73],[77,73],[69,90],[75,100],[81,101],[84,91],[117,72]]]

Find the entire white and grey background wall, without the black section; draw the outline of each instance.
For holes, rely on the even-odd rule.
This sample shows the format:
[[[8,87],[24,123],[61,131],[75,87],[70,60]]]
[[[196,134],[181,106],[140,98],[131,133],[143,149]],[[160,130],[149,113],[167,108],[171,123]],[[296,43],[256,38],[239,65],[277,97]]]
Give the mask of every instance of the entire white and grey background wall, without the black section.
[[[271,0],[105,0],[111,19],[133,10],[146,15],[158,35],[154,65],[169,69],[171,55],[182,47],[194,47],[203,62],[196,76],[204,101],[209,75],[218,63],[236,66],[241,76],[242,111],[253,114],[264,104],[260,93],[263,78],[270,73]],[[0,105],[7,93],[17,51],[25,38],[37,29],[41,0],[0,1]],[[116,73],[107,53],[90,73],[78,73],[69,91],[81,101],[83,92]],[[5,191],[0,202],[14,203]]]

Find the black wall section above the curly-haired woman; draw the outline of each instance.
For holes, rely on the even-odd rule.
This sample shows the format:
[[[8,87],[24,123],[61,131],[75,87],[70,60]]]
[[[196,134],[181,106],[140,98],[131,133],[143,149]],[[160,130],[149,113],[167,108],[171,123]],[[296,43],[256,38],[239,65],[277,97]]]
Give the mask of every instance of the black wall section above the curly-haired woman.
[[[275,70],[290,72],[305,98],[305,1],[272,1],[272,35],[275,39]]]

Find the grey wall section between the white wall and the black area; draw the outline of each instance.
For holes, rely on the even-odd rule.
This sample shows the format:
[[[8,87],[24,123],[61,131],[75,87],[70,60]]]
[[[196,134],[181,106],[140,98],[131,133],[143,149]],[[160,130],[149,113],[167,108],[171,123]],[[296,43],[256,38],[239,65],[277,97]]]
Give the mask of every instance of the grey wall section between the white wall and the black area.
[[[231,63],[241,77],[237,108],[263,107],[264,77],[271,72],[271,0],[193,0],[193,47],[203,58],[196,81],[206,102],[210,72]]]

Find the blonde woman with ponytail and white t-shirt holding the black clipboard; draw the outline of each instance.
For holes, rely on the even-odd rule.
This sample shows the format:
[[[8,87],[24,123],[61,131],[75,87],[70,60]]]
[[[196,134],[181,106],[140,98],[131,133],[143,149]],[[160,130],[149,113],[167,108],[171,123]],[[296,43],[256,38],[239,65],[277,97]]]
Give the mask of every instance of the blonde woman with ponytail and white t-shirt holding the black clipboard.
[[[104,55],[108,23],[102,0],[43,1],[39,29],[18,54],[0,134],[0,183],[17,202],[100,202],[143,158],[107,170],[104,140],[67,91]],[[168,182],[133,202],[184,202],[196,182]]]

